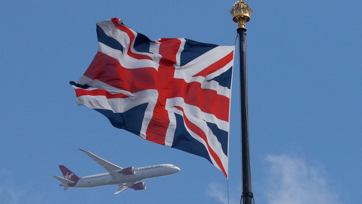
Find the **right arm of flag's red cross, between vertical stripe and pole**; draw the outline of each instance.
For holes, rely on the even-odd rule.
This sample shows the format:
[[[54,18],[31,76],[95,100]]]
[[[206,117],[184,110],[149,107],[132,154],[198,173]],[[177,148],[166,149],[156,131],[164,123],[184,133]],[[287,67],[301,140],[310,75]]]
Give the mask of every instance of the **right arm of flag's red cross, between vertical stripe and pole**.
[[[171,97],[182,97],[185,103],[197,106],[202,112],[215,115],[216,118],[229,122],[230,98],[219,95],[215,90],[202,89],[199,82],[185,82],[175,79]]]

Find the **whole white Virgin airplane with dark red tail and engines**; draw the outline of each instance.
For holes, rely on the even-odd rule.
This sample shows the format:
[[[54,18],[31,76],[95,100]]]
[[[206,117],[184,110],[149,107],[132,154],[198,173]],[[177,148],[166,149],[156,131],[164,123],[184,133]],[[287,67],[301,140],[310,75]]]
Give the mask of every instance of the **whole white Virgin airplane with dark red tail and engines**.
[[[103,168],[105,168],[108,173],[79,177],[65,166],[59,165],[60,171],[62,171],[64,178],[60,176],[53,177],[62,182],[62,184],[59,184],[59,186],[63,186],[64,191],[70,188],[93,188],[102,185],[118,185],[118,190],[113,194],[121,193],[127,188],[133,188],[134,190],[143,190],[146,189],[146,183],[138,181],[143,179],[167,176],[180,171],[180,168],[172,164],[158,164],[139,168],[122,168],[110,162],[107,162],[106,160],[88,151],[81,151],[83,151],[90,158],[92,158]]]

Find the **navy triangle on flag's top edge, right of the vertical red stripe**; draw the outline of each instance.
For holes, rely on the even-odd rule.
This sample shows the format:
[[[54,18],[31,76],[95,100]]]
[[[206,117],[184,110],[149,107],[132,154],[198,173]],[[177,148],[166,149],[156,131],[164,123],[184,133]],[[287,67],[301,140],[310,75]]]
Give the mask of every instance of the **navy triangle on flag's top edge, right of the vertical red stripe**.
[[[216,48],[218,45],[197,42],[194,40],[185,39],[184,50],[181,52],[180,66],[184,66],[190,61],[200,57],[202,54]]]

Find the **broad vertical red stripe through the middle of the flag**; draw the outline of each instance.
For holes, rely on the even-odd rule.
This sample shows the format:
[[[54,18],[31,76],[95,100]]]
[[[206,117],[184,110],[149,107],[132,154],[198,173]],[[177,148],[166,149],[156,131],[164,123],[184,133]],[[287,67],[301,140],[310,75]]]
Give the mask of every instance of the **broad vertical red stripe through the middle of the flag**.
[[[174,82],[175,67],[173,65],[177,62],[176,54],[181,41],[175,38],[161,38],[159,42],[159,53],[162,56],[156,82],[159,96],[153,109],[152,119],[147,127],[146,139],[165,145],[165,136],[170,123],[165,105]]]

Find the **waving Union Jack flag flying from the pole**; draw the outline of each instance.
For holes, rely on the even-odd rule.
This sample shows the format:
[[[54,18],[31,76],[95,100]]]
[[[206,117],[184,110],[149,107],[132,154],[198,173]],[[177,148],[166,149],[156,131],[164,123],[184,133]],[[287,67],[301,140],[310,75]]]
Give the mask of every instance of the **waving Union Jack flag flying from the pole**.
[[[77,105],[114,127],[208,159],[227,178],[234,46],[151,41],[113,18],[97,23],[98,52],[75,89]]]

